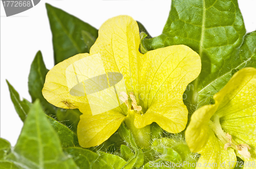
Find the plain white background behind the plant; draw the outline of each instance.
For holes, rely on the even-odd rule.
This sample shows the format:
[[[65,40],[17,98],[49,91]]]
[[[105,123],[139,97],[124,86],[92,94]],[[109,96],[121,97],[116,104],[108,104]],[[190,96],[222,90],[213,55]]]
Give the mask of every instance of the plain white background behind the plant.
[[[256,30],[256,0],[239,0],[247,32]],[[28,92],[30,65],[41,50],[46,67],[53,64],[52,34],[45,3],[60,8],[99,29],[108,18],[130,15],[155,37],[161,34],[170,10],[170,0],[57,1],[41,0],[28,11],[6,17],[1,2],[1,137],[16,144],[23,122],[10,99],[6,79],[20,97],[31,101]]]

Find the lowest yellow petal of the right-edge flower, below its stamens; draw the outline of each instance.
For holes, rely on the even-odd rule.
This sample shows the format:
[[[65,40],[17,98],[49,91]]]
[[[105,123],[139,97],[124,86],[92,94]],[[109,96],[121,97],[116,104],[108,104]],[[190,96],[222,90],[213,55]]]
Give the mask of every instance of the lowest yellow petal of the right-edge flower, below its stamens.
[[[209,139],[204,149],[200,152],[196,168],[234,168],[237,161],[236,154],[232,148],[223,149],[224,145],[215,136],[214,132],[209,132]],[[232,166],[233,164],[233,166]]]

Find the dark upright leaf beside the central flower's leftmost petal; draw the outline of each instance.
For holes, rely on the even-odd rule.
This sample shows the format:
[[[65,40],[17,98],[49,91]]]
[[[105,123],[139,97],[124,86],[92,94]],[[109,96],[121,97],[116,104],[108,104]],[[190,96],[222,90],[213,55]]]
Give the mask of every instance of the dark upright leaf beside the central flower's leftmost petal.
[[[31,64],[30,73],[29,73],[29,94],[32,98],[32,102],[36,99],[40,100],[40,103],[46,114],[54,115],[56,107],[50,104],[44,96],[42,96],[42,88],[45,84],[46,74],[48,69],[45,66],[44,60],[42,60],[42,53],[38,51],[35,55],[35,58]]]

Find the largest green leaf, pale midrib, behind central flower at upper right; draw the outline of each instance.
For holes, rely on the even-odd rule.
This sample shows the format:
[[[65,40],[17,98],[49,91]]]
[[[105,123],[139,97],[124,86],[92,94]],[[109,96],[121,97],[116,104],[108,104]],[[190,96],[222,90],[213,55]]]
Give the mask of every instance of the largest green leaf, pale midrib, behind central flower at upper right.
[[[147,50],[184,44],[199,53],[201,74],[185,92],[185,103],[194,111],[213,103],[232,70],[248,60],[238,58],[245,32],[237,0],[173,0],[162,35],[142,41]]]

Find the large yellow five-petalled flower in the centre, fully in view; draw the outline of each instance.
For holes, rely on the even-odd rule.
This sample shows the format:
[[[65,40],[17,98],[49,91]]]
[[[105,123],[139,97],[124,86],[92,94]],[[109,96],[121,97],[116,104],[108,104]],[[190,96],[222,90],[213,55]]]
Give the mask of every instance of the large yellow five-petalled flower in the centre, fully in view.
[[[79,108],[83,113],[77,128],[82,147],[100,145],[123,121],[136,133],[137,142],[141,143],[138,145],[142,147],[143,142],[149,140],[140,134],[148,137],[150,133],[144,132],[148,132],[149,125],[153,122],[171,133],[185,129],[188,112],[182,96],[188,83],[201,71],[199,55],[184,45],[168,46],[141,54],[139,44],[137,22],[129,16],[117,16],[100,27],[99,36],[91,47],[90,54],[77,54],[48,72],[42,90],[44,97],[57,107]],[[80,62],[87,57],[92,58],[89,64]],[[102,113],[99,111],[95,113],[97,115],[92,114],[89,95],[71,95],[70,89],[74,85],[69,87],[69,84],[78,83],[76,78],[67,79],[68,67],[77,61],[84,65],[78,66],[79,70],[75,73],[95,70],[94,58],[101,58],[106,74],[121,73],[126,88],[124,91],[117,89],[119,102],[124,102],[121,106],[114,106],[116,108]],[[130,100],[127,100],[129,96]],[[144,131],[143,128],[147,129]]]

